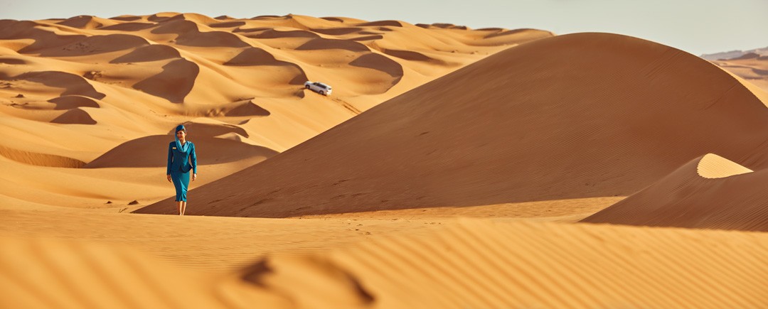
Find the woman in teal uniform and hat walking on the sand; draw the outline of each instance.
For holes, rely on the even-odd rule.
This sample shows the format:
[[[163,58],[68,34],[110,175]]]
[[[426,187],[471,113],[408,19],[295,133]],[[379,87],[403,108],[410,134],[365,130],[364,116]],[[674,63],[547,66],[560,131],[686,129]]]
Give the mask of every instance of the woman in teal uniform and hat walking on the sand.
[[[197,154],[194,143],[187,140],[187,128],[184,125],[176,127],[176,140],[168,145],[168,164],[166,176],[176,187],[176,202],[179,215],[184,215],[187,209],[187,188],[190,186],[190,170],[192,181],[197,179]]]

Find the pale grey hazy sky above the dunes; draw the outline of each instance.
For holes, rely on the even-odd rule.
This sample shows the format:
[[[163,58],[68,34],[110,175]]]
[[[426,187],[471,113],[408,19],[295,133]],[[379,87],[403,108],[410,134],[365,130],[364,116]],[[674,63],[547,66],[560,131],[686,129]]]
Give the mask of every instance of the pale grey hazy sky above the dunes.
[[[470,28],[611,32],[691,54],[768,47],[768,0],[0,0],[0,19],[190,12],[216,17],[343,16]]]

